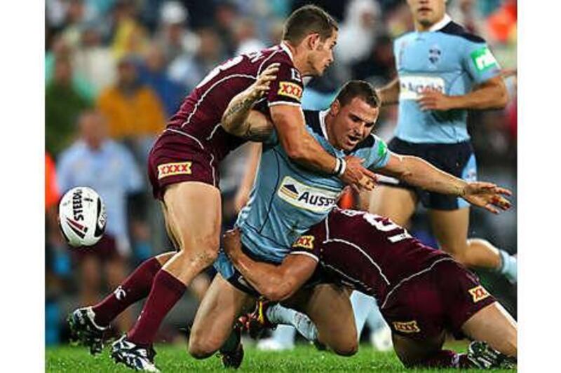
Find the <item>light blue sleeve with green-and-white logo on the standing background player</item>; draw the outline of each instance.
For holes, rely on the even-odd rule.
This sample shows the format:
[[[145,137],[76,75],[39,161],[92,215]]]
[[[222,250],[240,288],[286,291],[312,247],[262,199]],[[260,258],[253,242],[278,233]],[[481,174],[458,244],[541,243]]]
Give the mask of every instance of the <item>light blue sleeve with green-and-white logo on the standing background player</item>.
[[[499,62],[496,61],[489,46],[484,41],[481,43],[466,41],[464,65],[473,81],[477,84],[494,78],[501,73]]]

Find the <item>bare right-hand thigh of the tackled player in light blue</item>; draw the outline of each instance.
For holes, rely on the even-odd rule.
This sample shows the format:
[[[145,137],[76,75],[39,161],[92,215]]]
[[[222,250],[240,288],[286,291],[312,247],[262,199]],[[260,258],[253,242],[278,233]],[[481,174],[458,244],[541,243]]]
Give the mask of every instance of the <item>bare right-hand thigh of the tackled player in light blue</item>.
[[[358,350],[353,307],[346,288],[323,283],[314,286],[303,305],[318,328],[318,339],[335,353],[351,356]]]

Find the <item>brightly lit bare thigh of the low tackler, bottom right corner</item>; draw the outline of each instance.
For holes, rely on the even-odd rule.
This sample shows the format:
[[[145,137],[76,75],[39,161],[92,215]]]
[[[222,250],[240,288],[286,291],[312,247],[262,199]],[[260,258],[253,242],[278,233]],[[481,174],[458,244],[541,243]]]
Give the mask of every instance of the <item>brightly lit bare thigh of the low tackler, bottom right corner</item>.
[[[461,330],[478,341],[487,342],[492,348],[508,356],[516,356],[517,325],[499,302],[489,304],[462,325]]]

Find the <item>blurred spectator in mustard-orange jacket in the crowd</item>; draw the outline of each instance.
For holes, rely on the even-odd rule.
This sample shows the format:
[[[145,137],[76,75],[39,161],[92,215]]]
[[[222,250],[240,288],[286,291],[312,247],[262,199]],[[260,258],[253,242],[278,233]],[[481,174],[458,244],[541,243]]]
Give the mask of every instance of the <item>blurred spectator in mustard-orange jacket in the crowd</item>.
[[[119,61],[116,85],[100,93],[97,107],[107,117],[113,139],[142,141],[159,134],[165,125],[161,101],[138,80],[132,57]]]

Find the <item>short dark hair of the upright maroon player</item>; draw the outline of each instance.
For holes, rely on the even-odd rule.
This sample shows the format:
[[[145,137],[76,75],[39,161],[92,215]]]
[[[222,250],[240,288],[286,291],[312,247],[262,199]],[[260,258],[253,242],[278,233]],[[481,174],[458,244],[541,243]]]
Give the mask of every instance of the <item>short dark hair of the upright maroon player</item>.
[[[324,41],[338,30],[337,21],[329,13],[315,5],[298,8],[288,17],[283,30],[283,40],[297,45],[309,34],[319,34]]]

